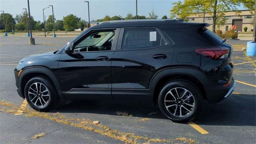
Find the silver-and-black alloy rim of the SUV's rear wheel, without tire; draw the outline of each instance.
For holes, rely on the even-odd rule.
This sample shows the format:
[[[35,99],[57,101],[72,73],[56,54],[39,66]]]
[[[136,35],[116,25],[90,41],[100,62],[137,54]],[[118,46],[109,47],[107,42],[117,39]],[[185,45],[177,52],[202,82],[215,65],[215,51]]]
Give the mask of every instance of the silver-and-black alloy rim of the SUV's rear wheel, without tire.
[[[164,98],[164,105],[170,114],[184,117],[193,112],[195,99],[189,90],[177,87],[167,92]]]

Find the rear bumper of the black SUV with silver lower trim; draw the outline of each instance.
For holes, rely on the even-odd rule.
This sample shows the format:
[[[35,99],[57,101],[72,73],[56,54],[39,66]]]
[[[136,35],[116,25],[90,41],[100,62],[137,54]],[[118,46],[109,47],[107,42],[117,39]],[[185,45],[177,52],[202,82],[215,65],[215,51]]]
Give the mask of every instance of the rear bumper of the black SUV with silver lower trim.
[[[209,86],[206,89],[206,96],[209,103],[220,102],[227,98],[235,89],[236,82],[234,78],[231,79],[231,84],[227,87],[224,85],[220,86]]]

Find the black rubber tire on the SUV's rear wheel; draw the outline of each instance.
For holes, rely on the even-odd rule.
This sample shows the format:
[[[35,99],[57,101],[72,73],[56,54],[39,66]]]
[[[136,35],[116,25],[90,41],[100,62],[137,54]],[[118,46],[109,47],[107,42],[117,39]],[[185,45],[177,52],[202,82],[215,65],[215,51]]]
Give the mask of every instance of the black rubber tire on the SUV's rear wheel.
[[[194,108],[192,106],[188,106],[188,105],[184,104],[185,102],[182,101],[182,99],[180,99],[178,97],[175,98],[175,96],[177,95],[177,92],[176,92],[176,94],[173,94],[174,96],[172,96],[172,95],[168,96],[168,98],[170,98],[170,97],[174,98],[171,101],[175,101],[175,102],[170,102],[170,105],[175,104],[175,106],[172,106],[171,110],[170,110],[170,108],[166,108],[166,106],[168,107],[168,104],[167,104],[168,102],[165,102],[165,98],[167,98],[166,94],[168,92],[170,94],[170,90],[172,90],[171,92],[173,92],[173,90],[182,91],[184,89],[189,91],[185,95],[186,97],[184,96],[184,98],[188,98],[190,94],[192,94],[192,96],[194,97],[194,98],[192,98],[190,96],[190,98],[185,100],[185,102],[187,103],[187,101],[189,100],[189,102],[193,103],[193,101],[194,101],[194,103],[193,103]],[[184,92],[185,92],[185,90],[184,90]],[[180,106],[178,106],[178,105],[180,105]],[[163,88],[160,90],[160,94],[158,97],[158,106],[159,106],[161,112],[167,118],[169,118],[173,122],[182,122],[183,123],[183,122],[188,122],[188,121],[193,120],[200,113],[200,111],[202,110],[202,106],[203,106],[203,98],[202,98],[202,94],[201,94],[200,90],[198,90],[197,86],[194,85],[192,82],[189,82],[187,80],[182,80],[182,79],[172,80],[170,82],[167,82],[163,86]],[[192,111],[191,112],[187,111],[186,109],[184,109],[183,106],[186,106],[186,108],[188,108],[188,109],[190,108],[189,110],[192,110]],[[179,109],[180,107],[181,107],[182,112],[184,112],[184,111],[187,112],[186,113],[187,115],[186,114],[184,114],[184,116],[179,115],[180,111],[177,112],[176,110],[177,109],[180,110]],[[174,109],[176,109],[176,110],[174,110]]]

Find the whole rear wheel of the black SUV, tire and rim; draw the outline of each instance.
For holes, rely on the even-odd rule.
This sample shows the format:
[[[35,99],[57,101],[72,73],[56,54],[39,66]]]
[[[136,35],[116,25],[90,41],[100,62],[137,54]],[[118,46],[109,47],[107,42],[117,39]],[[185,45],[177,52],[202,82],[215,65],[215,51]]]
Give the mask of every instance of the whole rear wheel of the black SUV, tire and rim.
[[[162,113],[174,122],[193,120],[202,109],[202,94],[186,80],[173,80],[160,90],[158,105]]]

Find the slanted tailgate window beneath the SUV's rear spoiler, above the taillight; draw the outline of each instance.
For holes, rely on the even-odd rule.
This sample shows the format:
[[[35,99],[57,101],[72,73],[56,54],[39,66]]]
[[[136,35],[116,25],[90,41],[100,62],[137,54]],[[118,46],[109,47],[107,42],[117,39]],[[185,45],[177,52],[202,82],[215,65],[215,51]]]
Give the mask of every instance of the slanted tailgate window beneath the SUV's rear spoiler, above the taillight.
[[[211,32],[210,30],[201,30],[198,32],[198,34],[200,34],[203,38],[211,43],[222,43],[223,41],[219,36]]]

